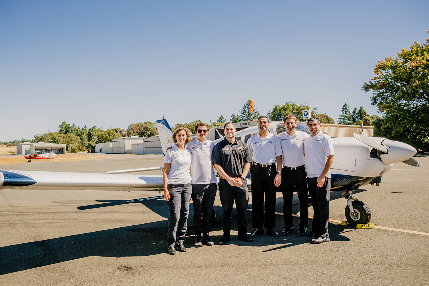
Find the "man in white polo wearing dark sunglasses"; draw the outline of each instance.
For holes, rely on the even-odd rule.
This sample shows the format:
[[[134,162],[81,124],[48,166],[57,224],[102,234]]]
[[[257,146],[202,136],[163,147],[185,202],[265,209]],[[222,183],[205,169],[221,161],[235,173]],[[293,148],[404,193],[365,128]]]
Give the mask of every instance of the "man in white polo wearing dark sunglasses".
[[[190,175],[192,177],[192,202],[193,202],[193,230],[195,233],[195,247],[202,247],[204,242],[213,245],[213,241],[208,236],[210,231],[211,210],[215,203],[216,176],[211,166],[211,152],[215,144],[207,140],[208,133],[206,123],[198,123],[195,126],[197,140],[186,145],[192,154]],[[201,238],[202,234],[202,238]]]

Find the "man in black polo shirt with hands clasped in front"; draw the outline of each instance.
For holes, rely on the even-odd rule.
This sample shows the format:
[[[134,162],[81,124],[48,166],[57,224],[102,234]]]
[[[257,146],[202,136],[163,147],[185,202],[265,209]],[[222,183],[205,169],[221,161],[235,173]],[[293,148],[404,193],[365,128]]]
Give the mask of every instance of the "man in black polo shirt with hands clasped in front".
[[[238,239],[253,241],[247,235],[247,206],[249,192],[246,176],[252,159],[247,145],[235,138],[236,126],[228,122],[224,126],[225,138],[215,145],[211,153],[211,163],[221,176],[219,180],[219,196],[223,208],[222,224],[224,235],[219,244],[226,244],[231,240],[231,212],[234,201],[237,209]]]

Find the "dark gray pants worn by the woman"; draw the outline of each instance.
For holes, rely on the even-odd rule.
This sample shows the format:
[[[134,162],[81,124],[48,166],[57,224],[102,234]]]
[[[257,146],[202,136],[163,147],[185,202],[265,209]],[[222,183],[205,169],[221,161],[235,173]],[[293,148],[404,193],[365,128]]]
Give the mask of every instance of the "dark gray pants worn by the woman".
[[[168,184],[170,200],[167,202],[170,216],[168,218],[167,244],[174,245],[176,241],[183,242],[187,229],[189,214],[189,199],[192,193],[190,184]]]

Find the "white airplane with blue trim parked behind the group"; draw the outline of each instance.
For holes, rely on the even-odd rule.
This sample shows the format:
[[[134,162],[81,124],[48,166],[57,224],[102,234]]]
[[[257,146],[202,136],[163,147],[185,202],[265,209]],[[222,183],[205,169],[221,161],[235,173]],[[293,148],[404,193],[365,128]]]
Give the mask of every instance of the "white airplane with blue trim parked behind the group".
[[[157,120],[161,146],[165,150],[172,146],[172,129],[163,117]],[[296,129],[310,135],[307,126],[298,124]],[[248,127],[236,132],[236,138],[247,141],[252,133],[258,132],[257,126]],[[279,134],[286,132],[283,122],[270,122],[269,132]],[[223,138],[217,139],[218,143]],[[367,138],[354,134],[354,137],[332,138],[334,144],[334,162],[331,166],[331,188],[345,190],[341,197],[347,199],[345,216],[351,224],[369,223],[371,212],[367,205],[358,201],[352,191],[367,184],[378,185],[381,176],[392,169],[394,163],[421,167],[422,164],[413,156],[417,153],[412,146],[390,141],[386,138]],[[163,187],[160,175],[128,175],[124,173],[162,170],[163,167],[128,169],[98,173],[39,172],[0,170],[0,189],[55,189],[67,187],[80,190],[138,190]],[[250,185],[250,180],[248,179]]]

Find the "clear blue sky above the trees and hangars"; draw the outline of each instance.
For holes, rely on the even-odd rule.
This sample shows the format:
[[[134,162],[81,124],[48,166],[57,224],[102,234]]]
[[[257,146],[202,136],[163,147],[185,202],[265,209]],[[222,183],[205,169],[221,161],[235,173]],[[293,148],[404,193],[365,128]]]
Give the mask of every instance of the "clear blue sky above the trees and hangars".
[[[429,1],[0,2],[0,141],[229,119],[308,102],[335,121],[378,60],[425,42]],[[381,114],[379,114],[381,115]]]

